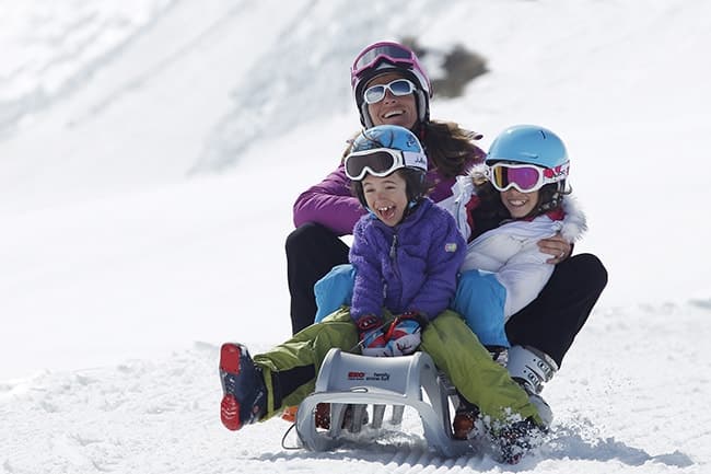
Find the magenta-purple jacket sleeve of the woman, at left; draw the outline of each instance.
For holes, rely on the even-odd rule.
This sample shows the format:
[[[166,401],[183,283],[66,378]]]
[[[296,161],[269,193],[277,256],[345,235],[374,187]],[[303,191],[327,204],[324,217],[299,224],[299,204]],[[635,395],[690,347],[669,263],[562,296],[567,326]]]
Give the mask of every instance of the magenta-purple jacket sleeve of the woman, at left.
[[[350,193],[350,180],[341,164],[319,184],[303,192],[294,203],[294,226],[319,223],[337,235],[353,232],[353,226],[365,213],[357,197]]]

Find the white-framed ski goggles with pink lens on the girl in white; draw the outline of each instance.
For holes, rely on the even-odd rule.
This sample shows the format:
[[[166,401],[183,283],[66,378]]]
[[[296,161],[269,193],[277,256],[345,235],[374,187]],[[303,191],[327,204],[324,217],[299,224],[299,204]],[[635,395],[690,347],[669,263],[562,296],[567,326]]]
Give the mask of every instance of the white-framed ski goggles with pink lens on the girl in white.
[[[552,169],[523,163],[496,163],[487,169],[486,174],[497,190],[514,187],[521,193],[533,193],[549,183],[564,180],[569,166],[569,163]]]

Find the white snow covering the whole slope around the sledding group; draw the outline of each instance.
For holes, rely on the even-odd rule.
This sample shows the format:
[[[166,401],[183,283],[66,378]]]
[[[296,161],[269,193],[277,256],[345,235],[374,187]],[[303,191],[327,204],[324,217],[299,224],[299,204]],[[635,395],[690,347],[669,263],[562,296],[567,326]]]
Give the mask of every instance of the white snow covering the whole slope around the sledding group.
[[[704,473],[711,4],[0,0],[0,473]],[[491,72],[435,118],[558,131],[608,288],[506,466],[412,433],[330,453],[218,415],[218,348],[290,334],[291,204],[358,127],[383,38]],[[436,65],[432,65],[436,70]],[[293,441],[287,438],[287,441]]]

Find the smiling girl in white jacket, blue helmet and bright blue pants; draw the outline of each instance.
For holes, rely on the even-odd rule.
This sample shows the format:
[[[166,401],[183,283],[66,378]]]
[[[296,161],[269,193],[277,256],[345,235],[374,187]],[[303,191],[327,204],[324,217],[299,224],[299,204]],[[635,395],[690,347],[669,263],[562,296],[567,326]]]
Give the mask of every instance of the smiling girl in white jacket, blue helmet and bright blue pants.
[[[441,203],[469,242],[452,308],[493,347],[510,346],[505,322],[536,299],[553,271],[538,241],[560,234],[573,243],[586,230],[585,216],[566,188],[570,162],[562,141],[541,127],[549,138],[535,147],[509,139],[521,127],[532,126],[501,134],[486,164],[461,176],[454,195]]]

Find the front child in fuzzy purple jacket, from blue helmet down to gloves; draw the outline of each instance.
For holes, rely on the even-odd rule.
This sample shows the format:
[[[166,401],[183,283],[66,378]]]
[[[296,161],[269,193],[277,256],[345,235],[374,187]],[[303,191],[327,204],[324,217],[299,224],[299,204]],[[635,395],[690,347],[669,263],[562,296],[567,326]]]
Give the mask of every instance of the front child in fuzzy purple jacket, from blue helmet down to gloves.
[[[368,213],[353,230],[351,317],[365,355],[411,354],[420,323],[447,309],[466,243],[452,216],[424,196],[427,157],[406,128],[358,136],[345,170]],[[397,315],[383,330],[383,311]]]

